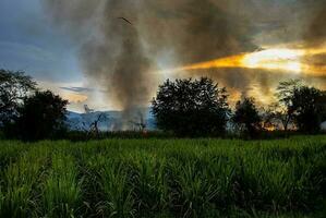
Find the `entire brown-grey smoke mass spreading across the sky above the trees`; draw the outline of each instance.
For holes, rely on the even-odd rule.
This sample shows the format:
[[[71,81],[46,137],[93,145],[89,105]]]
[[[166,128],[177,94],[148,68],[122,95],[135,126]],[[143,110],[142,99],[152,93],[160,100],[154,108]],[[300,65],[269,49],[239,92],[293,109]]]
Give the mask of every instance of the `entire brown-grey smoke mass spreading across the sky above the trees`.
[[[166,70],[262,46],[325,41],[325,1],[305,0],[45,0],[52,21],[80,48],[89,80],[125,111],[148,105]],[[243,69],[208,75],[233,93],[270,96],[293,75]],[[162,77],[159,77],[162,76]],[[297,76],[297,75],[294,75]]]

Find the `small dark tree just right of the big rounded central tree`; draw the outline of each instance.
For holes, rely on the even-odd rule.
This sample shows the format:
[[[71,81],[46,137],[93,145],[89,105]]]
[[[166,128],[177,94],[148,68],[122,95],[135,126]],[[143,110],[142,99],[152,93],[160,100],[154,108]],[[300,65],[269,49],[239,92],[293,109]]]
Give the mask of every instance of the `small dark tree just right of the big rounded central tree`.
[[[255,106],[254,98],[243,98],[243,100],[237,102],[232,121],[251,137],[255,136],[261,128],[262,118]]]

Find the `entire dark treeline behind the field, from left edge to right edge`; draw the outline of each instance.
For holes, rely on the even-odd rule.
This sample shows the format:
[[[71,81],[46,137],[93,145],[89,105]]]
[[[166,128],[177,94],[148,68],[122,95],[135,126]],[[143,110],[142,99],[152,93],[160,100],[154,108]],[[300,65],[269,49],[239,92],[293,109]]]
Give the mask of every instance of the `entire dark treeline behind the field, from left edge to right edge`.
[[[243,97],[232,110],[226,87],[207,77],[167,80],[152,100],[157,128],[154,136],[259,137],[269,131],[318,133],[326,120],[326,94],[300,81],[281,82],[277,102],[262,109],[252,97]],[[65,124],[68,101],[50,90],[41,92],[23,72],[0,70],[0,128],[8,138],[129,137],[134,133],[70,132]],[[95,121],[96,122],[96,121]],[[152,133],[142,132],[141,136]]]

